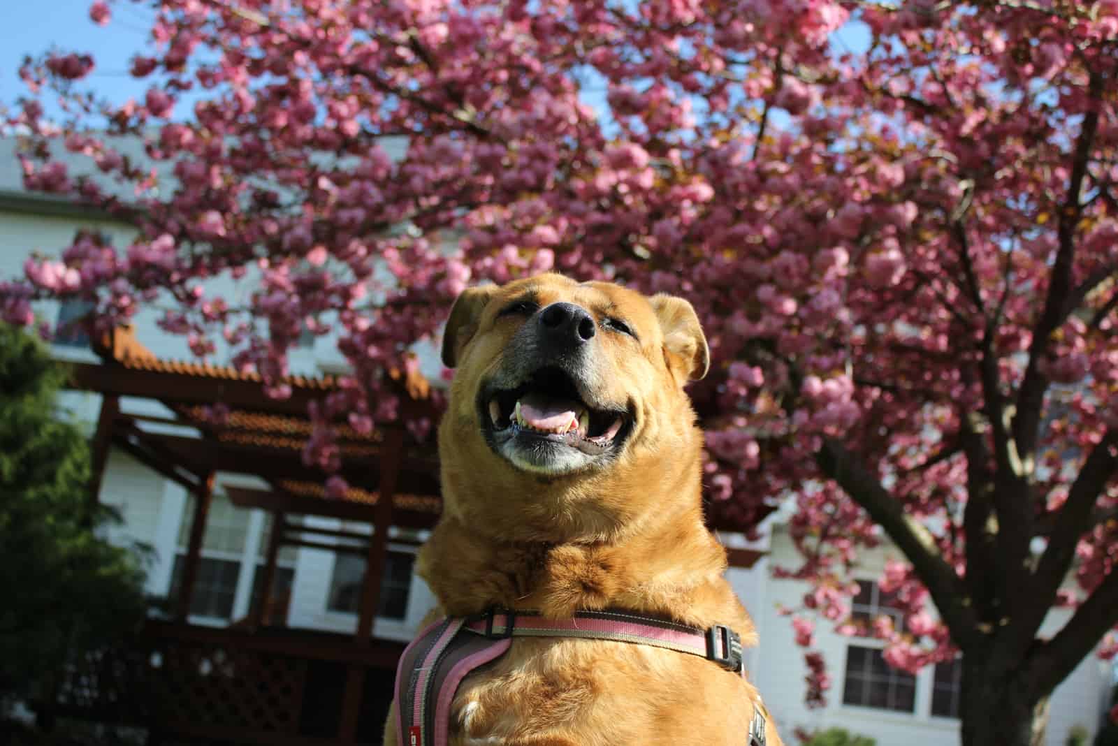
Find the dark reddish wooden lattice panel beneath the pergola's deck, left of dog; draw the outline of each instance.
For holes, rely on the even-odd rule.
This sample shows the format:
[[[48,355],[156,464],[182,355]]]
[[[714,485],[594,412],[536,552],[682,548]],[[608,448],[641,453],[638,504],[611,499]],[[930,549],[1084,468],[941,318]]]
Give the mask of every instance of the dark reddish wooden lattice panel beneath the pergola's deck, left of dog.
[[[303,698],[303,661],[255,650],[169,642],[153,656],[162,723],[294,734]]]

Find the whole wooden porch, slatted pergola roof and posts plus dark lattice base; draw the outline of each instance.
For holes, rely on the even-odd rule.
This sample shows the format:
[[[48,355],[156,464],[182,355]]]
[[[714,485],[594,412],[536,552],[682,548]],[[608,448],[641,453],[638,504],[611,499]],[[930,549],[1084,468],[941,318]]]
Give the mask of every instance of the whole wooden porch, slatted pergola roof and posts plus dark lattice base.
[[[117,329],[95,350],[102,362],[74,365],[70,379],[72,388],[102,396],[93,439],[93,499],[110,449],[116,449],[191,496],[189,535],[163,618],[150,619],[121,649],[74,661],[45,709],[135,725],[157,744],[379,744],[405,647],[377,635],[386,594],[381,578],[389,544],[419,543],[438,518],[434,444],[417,441],[404,428],[362,433],[339,423],[337,474],[349,487],[328,495],[322,485],[329,475],[304,463],[302,449],[313,427],[307,405],[338,391],[334,380],[291,377],[285,381],[291,396],[273,400],[264,395],[258,376],[160,360],[127,329]],[[435,421],[425,380],[386,371],[382,384],[401,411]],[[157,403],[161,413],[140,411],[138,401]],[[214,420],[207,408],[218,403],[228,411]],[[246,487],[235,477],[260,486]],[[237,508],[263,511],[271,525],[259,592],[247,613],[227,627],[190,622],[216,492]],[[307,517],[330,520],[323,525]],[[277,578],[283,547],[363,561],[352,632],[287,625]],[[738,566],[758,556],[730,551]]]

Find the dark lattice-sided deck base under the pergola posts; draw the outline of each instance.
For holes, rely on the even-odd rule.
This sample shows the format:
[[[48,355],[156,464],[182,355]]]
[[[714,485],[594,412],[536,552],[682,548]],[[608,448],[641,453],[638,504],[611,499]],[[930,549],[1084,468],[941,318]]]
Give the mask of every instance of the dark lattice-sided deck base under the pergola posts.
[[[379,744],[402,648],[329,632],[151,622],[129,645],[76,661],[57,711],[143,726],[154,742]],[[347,704],[356,708],[348,717]]]

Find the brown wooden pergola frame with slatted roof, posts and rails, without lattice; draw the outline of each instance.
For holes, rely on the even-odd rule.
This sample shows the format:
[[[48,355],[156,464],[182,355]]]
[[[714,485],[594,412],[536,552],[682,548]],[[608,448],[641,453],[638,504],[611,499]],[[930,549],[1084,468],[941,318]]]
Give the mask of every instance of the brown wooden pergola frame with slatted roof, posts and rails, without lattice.
[[[337,737],[323,743],[357,743],[367,698],[362,694],[367,690],[366,679],[373,670],[394,670],[402,650],[398,642],[372,635],[390,529],[432,528],[442,507],[434,447],[417,442],[402,427],[361,433],[338,423],[341,452],[338,474],[347,480],[349,489],[344,495],[331,497],[323,488],[330,475],[304,463],[302,449],[312,432],[307,405],[337,391],[334,379],[291,376],[284,381],[291,386],[291,396],[276,400],[265,395],[263,381],[256,374],[240,373],[228,366],[160,360],[127,328],[116,329],[94,348],[103,362],[72,364],[69,379],[70,388],[102,395],[93,438],[93,499],[100,494],[111,448],[120,449],[181,485],[195,497],[181,582],[177,597],[171,600],[174,621],[170,624],[152,622],[151,630],[186,637],[199,644],[203,641],[230,644],[221,632],[187,629],[218,472],[250,475],[268,485],[267,489],[222,485],[234,505],[259,508],[272,516],[262,593],[254,599],[248,618],[235,630],[240,643],[246,642],[244,635],[256,633],[268,621],[269,595],[281,547],[303,546],[364,556],[357,628],[349,643],[340,641],[340,635],[311,632],[286,638],[269,634],[249,643],[257,648],[257,643],[266,641],[266,651],[315,660],[352,661],[345,666]],[[425,415],[434,420],[436,412],[426,380],[387,371],[386,383],[400,398],[407,417]],[[159,402],[170,414],[123,411],[122,398]],[[208,417],[208,408],[218,403],[228,409],[228,414],[215,422]],[[183,434],[190,431],[198,434]],[[294,524],[287,519],[290,515],[368,523],[371,533]],[[273,729],[265,729],[257,738],[236,729],[215,729],[187,721],[181,725],[187,731],[184,735],[199,737],[311,743],[295,733],[277,734]],[[182,728],[176,733],[182,733]]]

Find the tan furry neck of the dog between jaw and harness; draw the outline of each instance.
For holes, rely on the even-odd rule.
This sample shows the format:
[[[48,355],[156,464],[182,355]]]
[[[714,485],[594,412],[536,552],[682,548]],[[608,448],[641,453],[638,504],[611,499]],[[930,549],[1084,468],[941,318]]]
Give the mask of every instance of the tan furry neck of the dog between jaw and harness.
[[[420,553],[419,573],[449,615],[499,606],[562,619],[624,608],[681,621],[692,621],[692,614],[703,623],[726,613],[710,608],[727,603],[720,583],[726,554],[698,507],[650,516],[608,541],[499,541],[453,517],[435,530]]]

